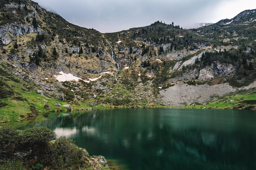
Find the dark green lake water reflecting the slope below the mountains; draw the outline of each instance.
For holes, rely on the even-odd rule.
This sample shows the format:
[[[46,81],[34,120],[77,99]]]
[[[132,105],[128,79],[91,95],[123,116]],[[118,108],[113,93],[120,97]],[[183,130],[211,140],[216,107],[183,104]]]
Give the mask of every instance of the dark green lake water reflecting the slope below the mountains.
[[[129,170],[256,170],[255,111],[92,110],[15,126],[47,126]]]

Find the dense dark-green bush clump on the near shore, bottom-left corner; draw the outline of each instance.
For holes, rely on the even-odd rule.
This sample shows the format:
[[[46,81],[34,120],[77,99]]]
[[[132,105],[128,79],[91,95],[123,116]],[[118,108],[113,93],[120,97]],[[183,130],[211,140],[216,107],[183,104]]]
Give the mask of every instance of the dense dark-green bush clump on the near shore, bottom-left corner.
[[[55,135],[46,127],[0,127],[0,170],[88,169],[88,152],[66,137],[50,142]],[[13,150],[25,156],[18,158]]]

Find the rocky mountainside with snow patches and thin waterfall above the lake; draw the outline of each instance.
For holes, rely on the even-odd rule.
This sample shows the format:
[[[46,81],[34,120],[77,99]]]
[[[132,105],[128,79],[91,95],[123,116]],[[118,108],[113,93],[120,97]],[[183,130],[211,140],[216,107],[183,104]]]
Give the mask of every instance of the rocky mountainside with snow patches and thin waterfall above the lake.
[[[255,10],[198,29],[157,21],[104,34],[30,0],[1,1],[0,17],[0,121],[39,111],[207,104],[256,80]]]

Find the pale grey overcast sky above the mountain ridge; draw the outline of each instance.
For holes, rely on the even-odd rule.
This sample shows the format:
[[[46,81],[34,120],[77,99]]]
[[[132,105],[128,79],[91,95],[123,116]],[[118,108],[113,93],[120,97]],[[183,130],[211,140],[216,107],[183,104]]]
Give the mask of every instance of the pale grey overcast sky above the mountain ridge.
[[[156,21],[174,22],[182,28],[195,23],[231,19],[256,0],[33,0],[72,24],[101,33],[148,26]]]

